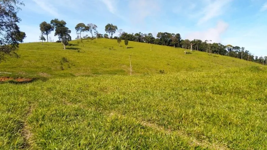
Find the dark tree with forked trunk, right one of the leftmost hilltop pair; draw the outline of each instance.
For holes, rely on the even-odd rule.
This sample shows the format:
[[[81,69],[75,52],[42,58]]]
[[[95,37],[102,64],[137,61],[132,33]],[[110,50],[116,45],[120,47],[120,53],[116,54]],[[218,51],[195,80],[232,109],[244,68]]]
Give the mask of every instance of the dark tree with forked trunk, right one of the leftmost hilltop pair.
[[[64,44],[64,49],[66,49],[66,45],[68,45],[68,41],[72,40],[70,36],[71,30],[67,27],[57,27],[56,33],[60,39],[62,39],[62,43]]]

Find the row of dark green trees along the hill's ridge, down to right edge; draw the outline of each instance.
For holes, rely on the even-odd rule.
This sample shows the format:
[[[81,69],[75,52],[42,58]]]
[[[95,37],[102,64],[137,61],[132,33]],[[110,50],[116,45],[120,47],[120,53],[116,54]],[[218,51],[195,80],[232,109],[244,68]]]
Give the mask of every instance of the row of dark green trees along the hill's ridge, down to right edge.
[[[69,33],[71,31],[65,27],[66,22],[58,19],[54,19],[50,21],[50,24],[46,22],[42,22],[40,24],[41,35],[46,35],[48,40],[48,34],[50,34],[54,28],[55,36],[59,36],[59,41],[62,41],[64,46],[67,41],[71,40]],[[117,39],[118,44],[121,43],[121,40],[125,40],[125,44],[128,45],[128,41],[136,41],[141,43],[149,43],[149,44],[158,44],[164,46],[172,46],[174,48],[184,48],[191,49],[201,52],[219,54],[224,56],[230,56],[234,58],[239,58],[242,60],[253,61],[261,64],[267,65],[267,56],[258,57],[253,56],[248,50],[244,47],[232,46],[232,45],[223,45],[221,43],[213,43],[211,40],[188,40],[181,39],[181,35],[179,33],[167,33],[167,32],[159,32],[157,33],[157,37],[153,37],[152,33],[126,33],[123,32],[122,29],[118,30],[118,27],[113,24],[107,24],[105,26],[105,34],[100,34],[97,31],[97,25],[89,23],[85,25],[84,23],[79,23],[75,26],[75,31],[77,33],[76,39],[89,38],[88,35],[82,37],[82,32],[91,33],[91,38],[110,38]],[[118,37],[113,37],[114,33],[119,33]],[[43,36],[41,36],[42,40],[45,40]]]

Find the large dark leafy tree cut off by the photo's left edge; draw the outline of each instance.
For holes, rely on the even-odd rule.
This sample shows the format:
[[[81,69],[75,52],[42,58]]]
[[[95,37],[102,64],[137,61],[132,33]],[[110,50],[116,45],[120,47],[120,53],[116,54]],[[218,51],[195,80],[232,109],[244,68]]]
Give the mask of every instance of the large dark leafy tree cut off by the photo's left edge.
[[[20,39],[20,30],[17,25],[21,21],[17,17],[19,6],[24,6],[20,0],[1,0],[0,1],[0,61],[4,56],[12,55],[18,57],[14,52],[17,50]]]

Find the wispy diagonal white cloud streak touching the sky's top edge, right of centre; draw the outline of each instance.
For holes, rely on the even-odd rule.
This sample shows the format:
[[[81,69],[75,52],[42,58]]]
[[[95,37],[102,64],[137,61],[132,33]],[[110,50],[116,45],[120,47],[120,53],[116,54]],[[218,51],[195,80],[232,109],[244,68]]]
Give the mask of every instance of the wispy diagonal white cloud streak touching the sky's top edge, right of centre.
[[[224,13],[225,6],[231,1],[232,0],[204,0],[204,2],[207,2],[207,4],[200,12],[201,14],[203,14],[203,17],[199,19],[198,25],[203,24],[204,22],[209,21],[214,17],[222,15]]]

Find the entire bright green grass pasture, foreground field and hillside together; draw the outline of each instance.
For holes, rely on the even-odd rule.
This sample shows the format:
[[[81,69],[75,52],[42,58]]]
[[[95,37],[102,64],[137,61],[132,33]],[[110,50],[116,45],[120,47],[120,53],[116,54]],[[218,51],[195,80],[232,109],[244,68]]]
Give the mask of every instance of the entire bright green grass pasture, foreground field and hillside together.
[[[0,149],[267,149],[266,67],[131,41],[71,44],[21,44],[21,58],[0,64],[37,78],[0,83]]]

